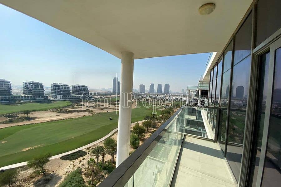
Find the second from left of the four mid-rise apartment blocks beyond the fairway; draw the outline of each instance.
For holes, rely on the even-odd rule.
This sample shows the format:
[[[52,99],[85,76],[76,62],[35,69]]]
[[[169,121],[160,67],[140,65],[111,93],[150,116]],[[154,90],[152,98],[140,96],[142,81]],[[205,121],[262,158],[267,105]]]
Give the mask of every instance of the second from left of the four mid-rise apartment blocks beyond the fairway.
[[[23,82],[23,95],[44,96],[44,92],[43,83],[35,81]]]

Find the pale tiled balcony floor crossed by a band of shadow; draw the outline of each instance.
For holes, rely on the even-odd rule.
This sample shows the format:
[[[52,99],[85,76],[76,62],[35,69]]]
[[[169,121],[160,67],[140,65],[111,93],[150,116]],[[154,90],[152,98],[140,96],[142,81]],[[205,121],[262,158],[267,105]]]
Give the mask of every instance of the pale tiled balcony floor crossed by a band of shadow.
[[[235,187],[217,143],[185,137],[172,187]]]

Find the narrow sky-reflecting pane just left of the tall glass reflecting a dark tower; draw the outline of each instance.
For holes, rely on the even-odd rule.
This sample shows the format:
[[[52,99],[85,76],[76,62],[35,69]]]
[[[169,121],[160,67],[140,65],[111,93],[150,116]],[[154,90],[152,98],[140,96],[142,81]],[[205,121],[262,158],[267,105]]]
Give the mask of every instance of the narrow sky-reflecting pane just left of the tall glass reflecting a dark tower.
[[[227,108],[229,96],[230,70],[223,74],[220,107]]]

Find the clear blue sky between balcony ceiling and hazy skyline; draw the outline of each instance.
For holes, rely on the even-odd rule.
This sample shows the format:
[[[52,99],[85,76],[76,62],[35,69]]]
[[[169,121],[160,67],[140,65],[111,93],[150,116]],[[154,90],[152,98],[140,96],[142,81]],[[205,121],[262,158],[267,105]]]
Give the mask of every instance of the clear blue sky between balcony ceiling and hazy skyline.
[[[0,78],[21,85],[39,81],[74,84],[75,72],[116,72],[121,60],[115,56],[0,4]],[[186,41],[188,42],[188,41]],[[170,84],[181,91],[197,85],[210,53],[135,60],[133,88],[150,83]],[[76,84],[111,88],[114,74],[76,74]],[[84,77],[85,76],[85,77]]]

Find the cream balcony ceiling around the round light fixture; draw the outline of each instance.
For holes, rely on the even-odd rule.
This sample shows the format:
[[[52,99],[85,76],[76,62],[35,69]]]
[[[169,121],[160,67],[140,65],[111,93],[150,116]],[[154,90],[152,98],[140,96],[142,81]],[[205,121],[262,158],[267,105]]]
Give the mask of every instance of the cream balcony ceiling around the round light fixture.
[[[0,0],[121,58],[221,51],[252,0]],[[201,5],[216,4],[199,14]]]

